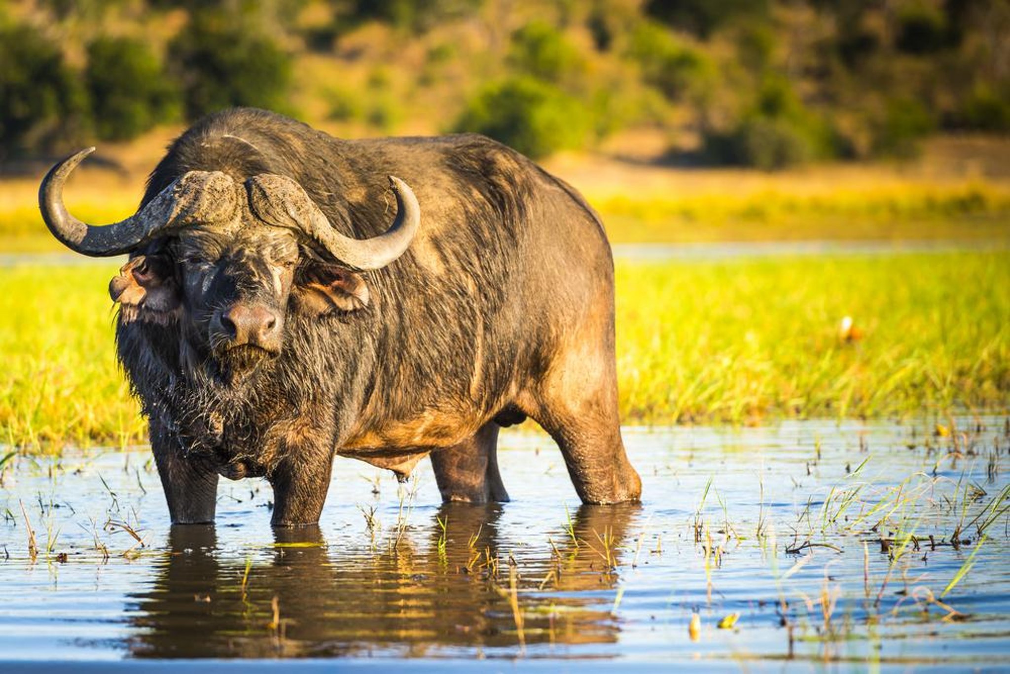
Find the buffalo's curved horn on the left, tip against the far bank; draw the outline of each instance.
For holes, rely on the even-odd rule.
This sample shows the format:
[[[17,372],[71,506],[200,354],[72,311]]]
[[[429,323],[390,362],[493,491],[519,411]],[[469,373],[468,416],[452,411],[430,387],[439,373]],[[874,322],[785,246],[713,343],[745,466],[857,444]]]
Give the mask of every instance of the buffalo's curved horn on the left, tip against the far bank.
[[[77,165],[94,151],[82,150],[54,166],[38,189],[38,208],[45,225],[76,253],[96,258],[129,253],[169,229],[230,219],[238,205],[229,176],[218,171],[190,171],[125,220],[106,225],[82,222],[64,205],[63,186]]]

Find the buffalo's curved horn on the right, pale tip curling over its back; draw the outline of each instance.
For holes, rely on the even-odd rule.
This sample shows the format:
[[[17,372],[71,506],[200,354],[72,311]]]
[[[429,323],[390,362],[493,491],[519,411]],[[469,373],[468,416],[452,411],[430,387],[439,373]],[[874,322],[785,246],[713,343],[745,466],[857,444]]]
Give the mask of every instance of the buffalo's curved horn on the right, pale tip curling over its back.
[[[384,233],[372,238],[351,238],[333,228],[301,185],[277,174],[250,178],[247,186],[252,212],[275,226],[298,229],[318,242],[342,266],[365,272],[382,269],[406,252],[421,220],[413,190],[389,177],[396,195],[396,219]]]

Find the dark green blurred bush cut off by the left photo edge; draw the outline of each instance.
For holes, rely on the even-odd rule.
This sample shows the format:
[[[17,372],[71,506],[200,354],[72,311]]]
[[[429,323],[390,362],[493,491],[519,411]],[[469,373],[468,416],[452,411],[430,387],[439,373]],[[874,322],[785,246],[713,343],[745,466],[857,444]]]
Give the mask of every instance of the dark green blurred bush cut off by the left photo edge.
[[[35,28],[0,28],[0,160],[52,152],[84,135],[87,92],[59,45]]]

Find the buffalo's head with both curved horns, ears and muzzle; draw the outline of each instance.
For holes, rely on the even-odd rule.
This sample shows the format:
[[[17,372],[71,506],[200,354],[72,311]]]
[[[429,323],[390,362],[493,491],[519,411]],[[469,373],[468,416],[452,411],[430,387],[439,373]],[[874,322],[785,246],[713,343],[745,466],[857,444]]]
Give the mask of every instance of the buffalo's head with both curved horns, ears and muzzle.
[[[125,220],[91,225],[68,212],[63,186],[93,151],[45,176],[42,219],[78,253],[128,253],[109,286],[121,320],[181,322],[185,348],[230,382],[282,352],[289,311],[319,316],[366,306],[369,291],[358,272],[403,255],[420,221],[413,192],[392,176],[392,226],[356,239],[334,229],[291,178],[261,174],[237,183],[223,172],[190,171]]]

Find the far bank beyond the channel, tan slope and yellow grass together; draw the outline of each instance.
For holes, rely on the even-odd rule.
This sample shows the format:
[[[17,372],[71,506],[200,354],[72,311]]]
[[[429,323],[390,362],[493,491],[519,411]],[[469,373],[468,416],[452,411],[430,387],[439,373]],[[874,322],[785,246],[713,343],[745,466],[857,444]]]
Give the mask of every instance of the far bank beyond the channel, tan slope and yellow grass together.
[[[93,222],[131,214],[146,172],[172,134],[164,131],[142,142],[100,149],[98,157],[121,171],[85,164],[66,190],[71,212]],[[1010,150],[1010,145],[990,145],[1004,155]],[[838,164],[781,173],[678,169],[648,159],[636,163],[607,155],[560,156],[545,166],[586,195],[614,243],[1007,243],[1010,179],[999,173],[995,160],[983,162],[980,155],[984,156],[979,147],[970,146],[961,154],[935,151],[907,166]],[[39,173],[0,182],[0,251],[64,250],[38,216],[40,179]]]

